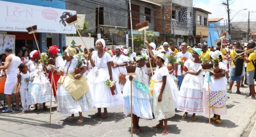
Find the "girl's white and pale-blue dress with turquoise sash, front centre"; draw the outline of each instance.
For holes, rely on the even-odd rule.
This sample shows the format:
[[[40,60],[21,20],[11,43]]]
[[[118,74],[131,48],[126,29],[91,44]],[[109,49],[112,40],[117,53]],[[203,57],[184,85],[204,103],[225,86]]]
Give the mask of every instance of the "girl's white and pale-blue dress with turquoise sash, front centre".
[[[133,92],[133,114],[140,118],[151,119],[152,109],[150,100],[153,99],[149,93],[148,86],[146,85],[145,77],[146,74],[143,68],[136,68],[135,74],[132,81],[132,92]],[[130,106],[130,81],[126,81],[123,88],[123,113],[128,115],[131,113]]]

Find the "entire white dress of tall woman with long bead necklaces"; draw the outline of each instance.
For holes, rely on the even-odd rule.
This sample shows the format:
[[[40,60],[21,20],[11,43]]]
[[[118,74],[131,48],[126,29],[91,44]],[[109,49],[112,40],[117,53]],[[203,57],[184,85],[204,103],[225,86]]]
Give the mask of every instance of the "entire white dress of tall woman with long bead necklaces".
[[[94,52],[92,59],[95,61],[95,67],[90,70],[86,76],[89,88],[92,94],[95,108],[109,108],[121,105],[123,103],[122,93],[119,84],[116,84],[115,95],[112,95],[105,81],[109,80],[107,63],[112,61],[110,55],[104,52],[103,57],[99,58],[98,52]],[[118,81],[115,72],[112,70],[113,81]]]

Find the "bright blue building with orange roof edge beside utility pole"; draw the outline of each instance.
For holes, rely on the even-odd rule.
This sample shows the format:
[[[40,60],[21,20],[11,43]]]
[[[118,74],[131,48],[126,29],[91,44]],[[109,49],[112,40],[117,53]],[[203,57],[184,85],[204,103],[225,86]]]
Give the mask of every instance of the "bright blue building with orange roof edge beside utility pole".
[[[228,26],[221,24],[223,18],[212,18],[209,19],[209,37],[208,37],[208,46],[215,46],[216,43],[220,40],[219,35],[223,32],[228,32]],[[228,35],[228,33],[227,33]],[[227,36],[226,36],[227,38]]]

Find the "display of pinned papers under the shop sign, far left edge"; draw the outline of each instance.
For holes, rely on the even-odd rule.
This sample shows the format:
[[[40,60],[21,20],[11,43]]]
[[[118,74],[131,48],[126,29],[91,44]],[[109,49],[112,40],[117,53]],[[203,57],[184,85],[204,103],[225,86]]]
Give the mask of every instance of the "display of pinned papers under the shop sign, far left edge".
[[[15,52],[15,35],[0,34],[0,55],[5,53],[5,48],[10,47]]]

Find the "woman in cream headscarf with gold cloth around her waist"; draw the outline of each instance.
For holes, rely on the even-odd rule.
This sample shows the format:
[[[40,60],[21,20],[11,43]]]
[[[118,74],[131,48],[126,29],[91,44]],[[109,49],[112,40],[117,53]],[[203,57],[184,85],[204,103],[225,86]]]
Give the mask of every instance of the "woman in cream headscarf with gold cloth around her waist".
[[[86,81],[86,68],[82,64],[81,71],[75,74],[78,66],[78,60],[73,56],[76,49],[68,47],[64,52],[65,61],[61,64],[59,70],[54,68],[51,71],[56,75],[62,75],[58,81],[58,110],[63,115],[70,115],[68,121],[74,121],[75,113],[79,113],[79,119],[76,124],[83,123],[82,112],[93,108],[93,100]]]

